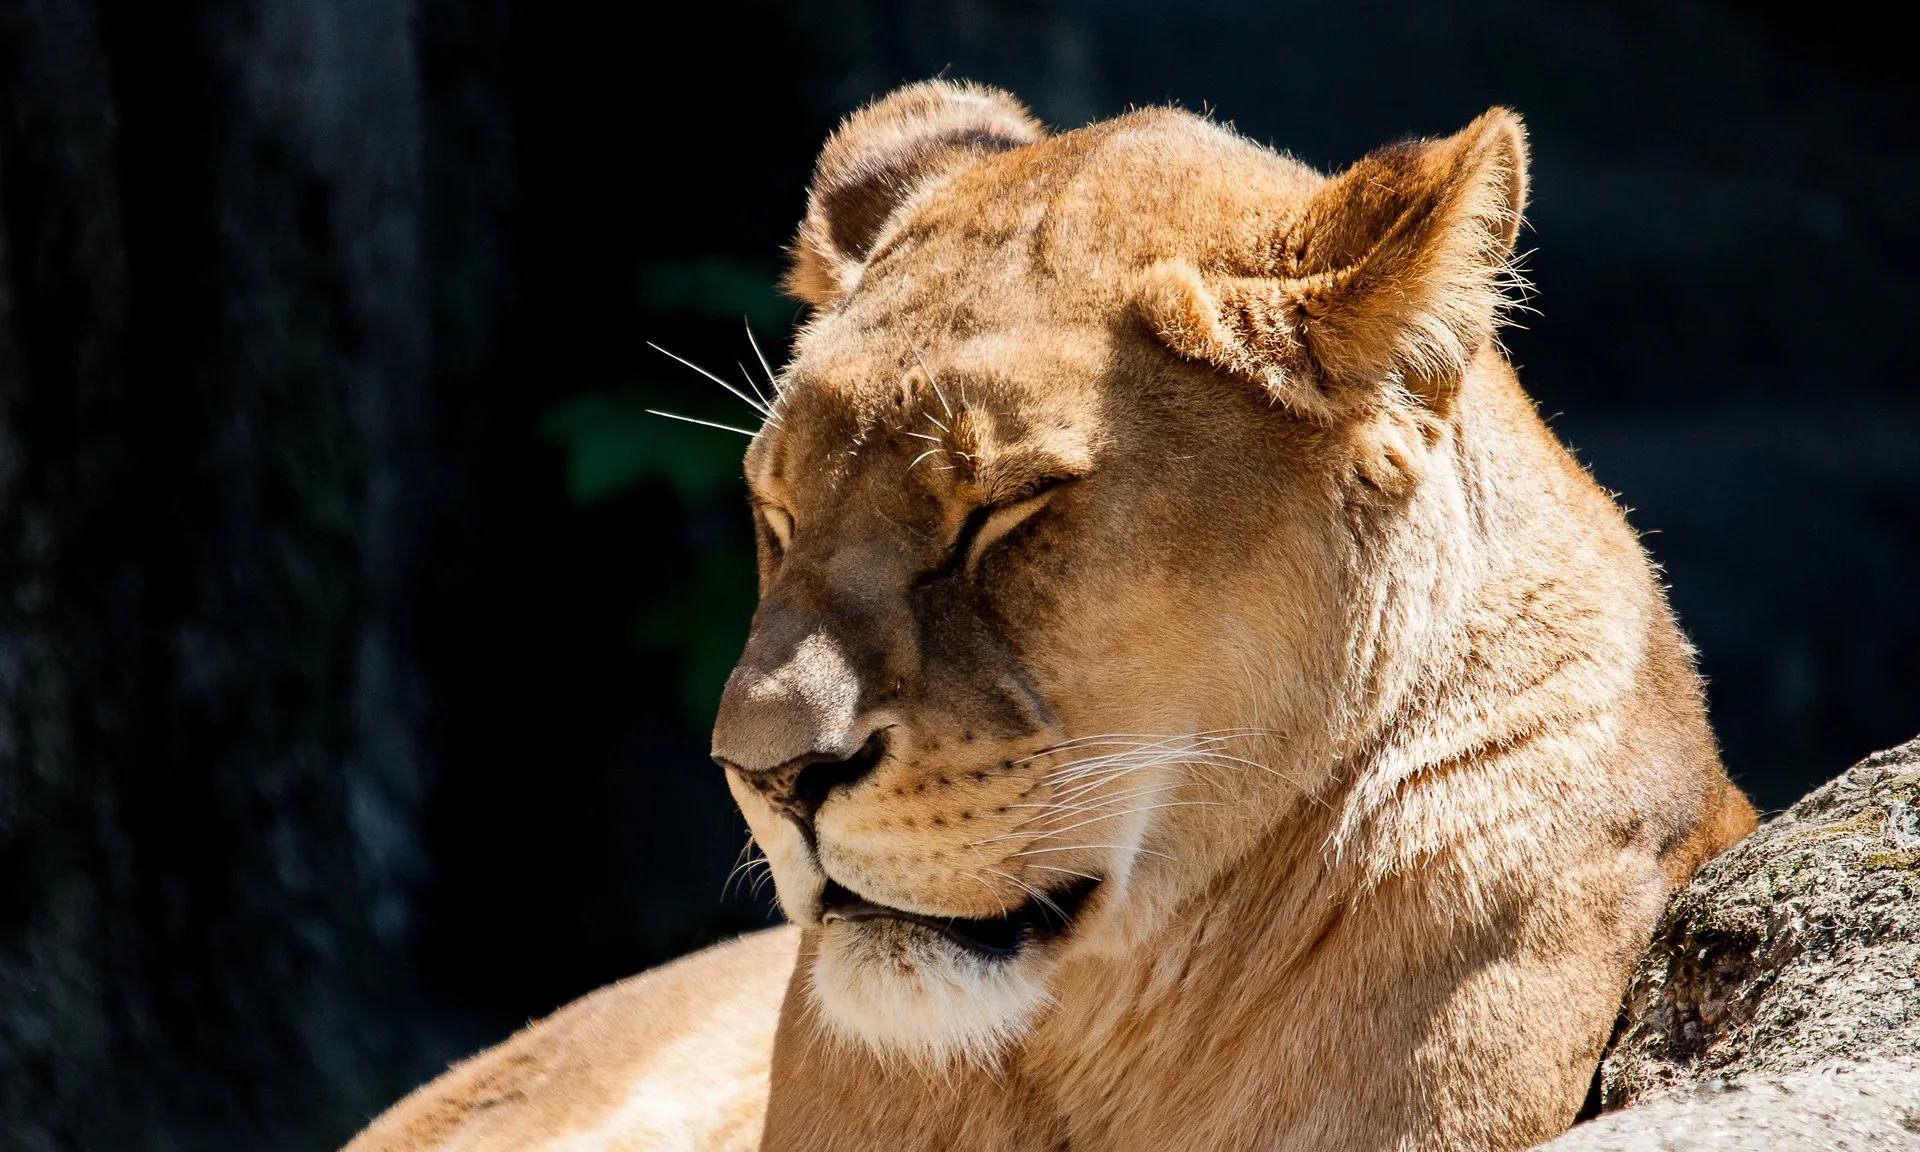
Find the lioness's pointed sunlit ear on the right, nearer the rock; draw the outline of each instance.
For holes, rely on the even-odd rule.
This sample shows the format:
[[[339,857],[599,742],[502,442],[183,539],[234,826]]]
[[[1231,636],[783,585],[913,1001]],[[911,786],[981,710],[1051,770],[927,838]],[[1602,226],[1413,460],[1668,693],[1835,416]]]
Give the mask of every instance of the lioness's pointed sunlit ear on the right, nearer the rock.
[[[1396,144],[1327,180],[1233,271],[1148,269],[1140,309],[1177,353],[1265,384],[1311,419],[1455,392],[1519,284],[1526,134],[1496,108],[1444,140]]]

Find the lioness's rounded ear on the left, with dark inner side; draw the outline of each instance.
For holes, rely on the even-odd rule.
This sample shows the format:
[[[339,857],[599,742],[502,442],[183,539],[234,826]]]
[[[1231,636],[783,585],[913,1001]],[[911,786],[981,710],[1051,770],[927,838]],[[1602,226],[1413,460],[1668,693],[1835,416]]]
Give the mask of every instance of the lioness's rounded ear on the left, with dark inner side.
[[[1044,134],[998,88],[925,81],[868,104],[820,152],[787,292],[816,309],[839,305],[887,221],[927,180]]]

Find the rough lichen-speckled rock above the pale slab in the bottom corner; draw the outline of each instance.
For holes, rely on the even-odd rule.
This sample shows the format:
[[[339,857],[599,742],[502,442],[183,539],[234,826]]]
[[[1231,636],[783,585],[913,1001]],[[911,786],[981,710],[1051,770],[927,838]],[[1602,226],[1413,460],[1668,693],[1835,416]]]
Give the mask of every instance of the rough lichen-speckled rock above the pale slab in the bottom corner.
[[[1920,1060],[1920,739],[1709,864],[1628,985],[1603,1108],[1832,1060]]]

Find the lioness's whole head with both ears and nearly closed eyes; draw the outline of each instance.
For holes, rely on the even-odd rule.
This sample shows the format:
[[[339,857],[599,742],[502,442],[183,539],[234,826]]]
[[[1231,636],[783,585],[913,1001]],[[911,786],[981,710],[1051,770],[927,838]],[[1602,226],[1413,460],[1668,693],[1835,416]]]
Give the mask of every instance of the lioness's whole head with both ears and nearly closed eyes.
[[[1377,163],[1517,213],[1517,154],[1457,140]],[[1356,307],[1432,269],[1334,282],[1409,213],[1484,234],[1478,202],[1354,221],[1340,180],[1181,113],[1043,138],[947,84],[828,144],[714,758],[843,1033],[991,1058],[1062,958],[1146,945],[1309,803],[1354,693],[1354,501],[1404,497],[1490,328]]]

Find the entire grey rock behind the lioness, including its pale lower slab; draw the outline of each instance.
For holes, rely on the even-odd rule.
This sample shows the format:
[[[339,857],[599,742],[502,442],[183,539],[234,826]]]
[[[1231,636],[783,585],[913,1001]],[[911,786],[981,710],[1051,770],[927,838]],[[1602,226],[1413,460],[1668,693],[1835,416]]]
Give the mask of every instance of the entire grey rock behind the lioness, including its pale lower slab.
[[[1920,739],[1693,877],[1553,1152],[1920,1148]]]

